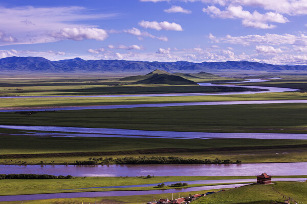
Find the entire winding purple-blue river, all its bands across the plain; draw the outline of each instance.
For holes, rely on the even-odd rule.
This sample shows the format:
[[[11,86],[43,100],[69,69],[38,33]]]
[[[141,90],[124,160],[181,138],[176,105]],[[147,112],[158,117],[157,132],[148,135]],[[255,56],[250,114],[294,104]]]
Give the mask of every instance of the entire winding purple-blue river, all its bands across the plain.
[[[264,82],[267,80],[254,79],[246,81]],[[240,83],[246,83],[240,82]],[[239,82],[235,82],[239,83]],[[280,87],[259,87],[243,85],[216,85],[201,83],[201,86],[227,86],[244,87],[252,89],[264,89],[262,91],[244,91],[228,93],[169,93],[169,94],[135,94],[135,95],[81,95],[81,96],[11,96],[0,98],[47,98],[47,97],[147,97],[147,96],[198,96],[198,95],[233,95],[233,94],[255,94],[273,93],[286,91],[299,91],[298,89]],[[307,100],[253,100],[253,101],[213,101],[201,103],[169,103],[169,104],[141,104],[141,105],[114,105],[114,106],[84,106],[84,107],[62,107],[62,108],[30,108],[18,110],[0,110],[0,112],[16,111],[53,111],[53,110],[84,110],[84,109],[116,109],[116,108],[138,108],[138,107],[169,107],[169,106],[205,106],[205,105],[239,105],[239,104],[281,104],[281,103],[307,103]],[[79,127],[42,127],[42,126],[16,126],[0,125],[1,128],[19,130],[43,130],[60,131],[65,133],[40,133],[42,136],[82,136],[82,137],[156,137],[156,138],[261,138],[261,139],[307,139],[307,134],[275,134],[275,133],[192,133],[192,132],[167,132],[167,131],[138,131],[121,129],[89,129]],[[71,132],[75,132],[74,134]],[[287,154],[287,152],[284,152]],[[176,169],[174,171],[173,169]],[[272,175],[306,175],[307,163],[257,163],[257,164],[191,164],[191,165],[0,165],[0,173],[36,173],[73,176],[140,176],[140,175],[256,175],[259,172],[267,171]],[[282,180],[282,179],[281,179]],[[300,181],[294,179],[293,181]],[[276,180],[277,181],[277,180]],[[289,180],[287,180],[289,181]],[[194,183],[193,183],[194,182]],[[204,181],[187,182],[190,184],[204,183]],[[206,181],[207,184],[238,182],[237,180]],[[240,182],[254,182],[254,180],[240,180]],[[150,184],[153,185],[153,184]],[[209,189],[234,188],[248,184],[215,185],[204,187],[192,187],[182,189],[151,190],[151,191],[107,191],[107,192],[79,192],[79,193],[52,193],[34,195],[12,195],[0,196],[0,201],[34,200],[50,198],[73,198],[73,197],[99,197],[99,196],[124,196],[124,195],[145,195],[160,193],[175,193],[188,191],[202,191]],[[148,186],[148,185],[147,185]],[[125,186],[127,187],[127,186]],[[130,186],[128,186],[130,187]],[[101,187],[102,188],[102,187]],[[119,188],[119,187],[118,187]],[[122,187],[121,187],[122,188]]]

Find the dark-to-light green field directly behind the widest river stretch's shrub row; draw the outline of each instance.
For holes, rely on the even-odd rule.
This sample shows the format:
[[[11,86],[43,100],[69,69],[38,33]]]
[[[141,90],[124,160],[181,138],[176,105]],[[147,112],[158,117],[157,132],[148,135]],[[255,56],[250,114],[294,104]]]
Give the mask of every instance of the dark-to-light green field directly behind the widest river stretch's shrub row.
[[[73,164],[90,157],[178,156],[246,162],[307,161],[306,140],[0,136],[0,164]],[[25,155],[27,154],[27,155]],[[99,162],[100,163],[100,162]],[[111,162],[113,163],[113,162]]]

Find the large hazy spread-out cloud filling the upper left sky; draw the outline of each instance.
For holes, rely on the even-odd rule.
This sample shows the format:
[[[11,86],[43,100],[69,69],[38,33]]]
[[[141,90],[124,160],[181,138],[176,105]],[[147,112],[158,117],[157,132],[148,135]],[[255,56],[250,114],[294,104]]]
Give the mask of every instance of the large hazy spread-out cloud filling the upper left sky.
[[[93,29],[97,25],[86,24],[90,20],[105,19],[116,16],[116,13],[93,13],[83,7],[0,7],[0,28],[14,36],[0,45],[45,43],[60,40],[51,33],[64,29]],[[63,37],[63,36],[62,36]],[[71,36],[68,36],[69,38]],[[69,39],[67,38],[67,39]],[[75,37],[71,37],[74,39]],[[100,38],[101,39],[101,38]],[[1,40],[0,40],[1,41]]]

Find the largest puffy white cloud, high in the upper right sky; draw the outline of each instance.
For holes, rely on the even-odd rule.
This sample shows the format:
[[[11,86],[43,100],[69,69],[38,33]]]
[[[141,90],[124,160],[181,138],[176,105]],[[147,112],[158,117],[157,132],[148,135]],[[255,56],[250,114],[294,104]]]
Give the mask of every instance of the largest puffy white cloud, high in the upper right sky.
[[[243,19],[242,23],[246,27],[260,28],[260,29],[271,29],[275,28],[275,25],[269,25],[265,22],[278,22],[286,23],[289,20],[279,13],[268,12],[260,14],[257,11],[250,13],[249,11],[243,10],[242,6],[229,6],[225,11],[221,11],[215,6],[208,6],[203,8],[203,12],[208,13],[211,17],[217,18],[231,18],[231,19]]]

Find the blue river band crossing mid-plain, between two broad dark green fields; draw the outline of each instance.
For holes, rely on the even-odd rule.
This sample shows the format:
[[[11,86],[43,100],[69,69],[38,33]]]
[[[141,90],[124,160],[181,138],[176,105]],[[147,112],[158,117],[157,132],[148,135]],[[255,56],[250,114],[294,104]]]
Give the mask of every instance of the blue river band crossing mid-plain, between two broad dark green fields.
[[[104,129],[88,127],[60,127],[60,126],[19,126],[0,125],[0,128],[27,130],[30,134],[24,136],[48,137],[125,137],[125,138],[168,138],[168,139],[214,139],[214,138],[249,138],[249,139],[295,139],[305,140],[307,134],[296,133],[202,133],[176,131],[142,131],[125,129]],[[46,131],[34,133],[31,131]],[[67,133],[52,133],[67,132]],[[25,132],[27,133],[27,132]]]

